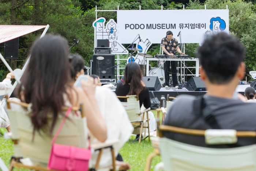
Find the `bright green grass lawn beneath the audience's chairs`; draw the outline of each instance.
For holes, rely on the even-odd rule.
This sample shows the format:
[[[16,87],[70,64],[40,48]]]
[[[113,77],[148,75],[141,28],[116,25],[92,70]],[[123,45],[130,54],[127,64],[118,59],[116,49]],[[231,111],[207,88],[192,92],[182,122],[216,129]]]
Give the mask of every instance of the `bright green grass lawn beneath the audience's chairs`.
[[[162,114],[160,113],[160,118],[161,115]],[[131,136],[129,141],[125,143],[123,148],[121,148],[120,154],[122,155],[124,161],[128,162],[131,165],[131,171],[144,171],[147,156],[152,153],[154,149],[151,145],[151,142],[148,141],[148,138],[146,138],[146,140],[143,140],[140,144],[138,141],[132,143],[134,139],[135,136]],[[0,136],[0,157],[7,167],[10,164],[10,159],[13,153],[14,148],[12,141],[5,140],[3,136]],[[160,156],[154,157],[151,165],[151,170],[153,170],[154,166],[160,161]]]

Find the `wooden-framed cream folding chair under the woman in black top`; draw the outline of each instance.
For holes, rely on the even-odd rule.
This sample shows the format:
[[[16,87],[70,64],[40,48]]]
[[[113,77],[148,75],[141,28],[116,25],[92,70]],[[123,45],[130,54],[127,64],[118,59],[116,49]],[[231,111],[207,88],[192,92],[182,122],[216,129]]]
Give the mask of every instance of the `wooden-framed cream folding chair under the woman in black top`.
[[[149,119],[148,119],[148,111],[150,110],[150,108],[140,111],[139,97],[136,95],[117,96],[117,98],[127,99],[127,102],[121,102],[121,103],[123,104],[133,127],[134,128],[140,127],[139,143],[142,140],[141,137],[142,137],[143,128],[148,129],[148,140],[150,141]],[[146,118],[145,118],[145,113],[147,113]],[[142,115],[142,117],[141,117],[141,115]],[[147,126],[144,126],[144,123],[146,123]],[[147,137],[145,137],[144,139],[146,139],[146,138]],[[137,140],[138,140],[138,138],[135,139],[134,141],[137,141]]]

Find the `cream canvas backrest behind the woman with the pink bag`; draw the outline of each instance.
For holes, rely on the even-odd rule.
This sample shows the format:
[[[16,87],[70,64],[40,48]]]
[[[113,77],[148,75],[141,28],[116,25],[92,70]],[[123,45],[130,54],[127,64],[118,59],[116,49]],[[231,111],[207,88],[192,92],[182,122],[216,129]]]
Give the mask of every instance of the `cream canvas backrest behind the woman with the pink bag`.
[[[10,103],[7,102],[7,104]],[[15,102],[17,103],[17,102]],[[25,106],[27,105],[26,103]],[[21,104],[22,105],[22,104]],[[8,105],[7,105],[8,106]],[[24,106],[24,105],[22,105]],[[10,108],[10,104],[9,104]],[[7,109],[11,122],[12,139],[15,144],[15,155],[29,157],[33,164],[45,166],[48,163],[50,150],[52,148],[51,141],[53,137],[44,132],[35,133],[33,137],[33,125],[31,123],[29,112],[25,110]],[[64,111],[64,114],[66,112]],[[69,114],[71,116],[73,114]],[[51,117],[48,118],[51,123]],[[57,132],[63,117],[57,119],[54,126],[53,135]],[[86,118],[69,117],[66,120],[61,132],[56,140],[57,144],[72,145],[80,148],[88,148],[88,128]],[[18,142],[18,143],[17,143]]]

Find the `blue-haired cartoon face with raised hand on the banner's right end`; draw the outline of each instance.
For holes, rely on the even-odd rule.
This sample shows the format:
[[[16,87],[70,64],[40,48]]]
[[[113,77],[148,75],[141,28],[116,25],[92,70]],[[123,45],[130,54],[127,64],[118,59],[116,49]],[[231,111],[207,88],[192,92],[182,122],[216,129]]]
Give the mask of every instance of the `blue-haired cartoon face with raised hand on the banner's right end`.
[[[226,22],[221,19],[220,17],[211,18],[210,20],[210,30],[207,30],[205,32],[206,35],[214,35],[221,33],[221,31],[224,31],[226,29]]]

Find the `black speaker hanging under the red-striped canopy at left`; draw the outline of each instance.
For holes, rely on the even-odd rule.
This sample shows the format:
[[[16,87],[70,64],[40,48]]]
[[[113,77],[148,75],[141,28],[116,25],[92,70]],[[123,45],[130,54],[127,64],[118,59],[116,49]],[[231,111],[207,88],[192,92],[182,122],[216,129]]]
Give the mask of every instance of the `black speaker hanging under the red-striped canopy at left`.
[[[18,59],[19,52],[19,38],[4,42],[4,58]]]

